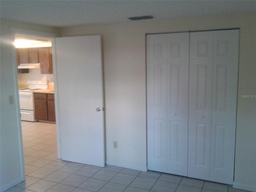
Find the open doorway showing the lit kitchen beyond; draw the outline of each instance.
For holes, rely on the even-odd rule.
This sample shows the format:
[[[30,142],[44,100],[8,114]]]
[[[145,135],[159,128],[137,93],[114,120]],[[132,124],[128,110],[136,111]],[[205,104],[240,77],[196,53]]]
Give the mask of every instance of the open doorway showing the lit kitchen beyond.
[[[58,159],[54,108],[54,74],[51,60],[52,38],[17,33],[14,34],[14,39],[19,95],[20,89],[23,89],[23,94],[30,93],[33,104],[32,110],[23,110],[26,100],[22,102],[20,99],[24,154],[24,157],[21,158],[24,158],[25,175],[28,175],[38,168],[38,164],[47,164],[52,160]],[[36,63],[40,63],[39,67],[33,68],[30,66]],[[20,64],[25,64],[25,67],[19,67]],[[29,67],[27,68],[26,66]],[[41,86],[40,88],[42,88],[41,90],[36,87],[39,85],[38,82]],[[45,98],[34,97],[35,94]],[[35,100],[36,102],[34,102]]]

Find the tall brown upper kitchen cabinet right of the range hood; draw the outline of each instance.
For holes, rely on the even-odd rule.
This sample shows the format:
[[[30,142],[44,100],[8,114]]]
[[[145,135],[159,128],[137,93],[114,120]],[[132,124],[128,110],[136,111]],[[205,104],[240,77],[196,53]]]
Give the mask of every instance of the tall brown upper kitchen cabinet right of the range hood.
[[[40,62],[41,74],[52,74],[52,48],[38,48],[38,57]]]

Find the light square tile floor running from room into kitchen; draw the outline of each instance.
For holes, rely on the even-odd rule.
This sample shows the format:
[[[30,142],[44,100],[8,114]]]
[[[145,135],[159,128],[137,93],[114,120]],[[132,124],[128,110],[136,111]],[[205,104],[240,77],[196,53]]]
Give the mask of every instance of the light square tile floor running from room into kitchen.
[[[26,181],[6,192],[245,192],[161,172],[62,161],[55,124],[22,121],[22,137]]]

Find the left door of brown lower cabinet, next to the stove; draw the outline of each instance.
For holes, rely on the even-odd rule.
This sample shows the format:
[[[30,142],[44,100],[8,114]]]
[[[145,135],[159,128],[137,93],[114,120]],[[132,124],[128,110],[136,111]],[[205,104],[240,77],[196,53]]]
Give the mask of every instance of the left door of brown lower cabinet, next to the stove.
[[[35,118],[36,120],[48,120],[47,99],[44,93],[34,93]]]

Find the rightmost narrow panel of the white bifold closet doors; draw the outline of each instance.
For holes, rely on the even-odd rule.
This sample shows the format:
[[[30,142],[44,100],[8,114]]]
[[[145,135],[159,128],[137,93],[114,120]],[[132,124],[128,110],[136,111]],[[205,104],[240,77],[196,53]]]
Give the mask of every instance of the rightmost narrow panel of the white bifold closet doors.
[[[233,184],[239,30],[214,32],[210,180]]]

